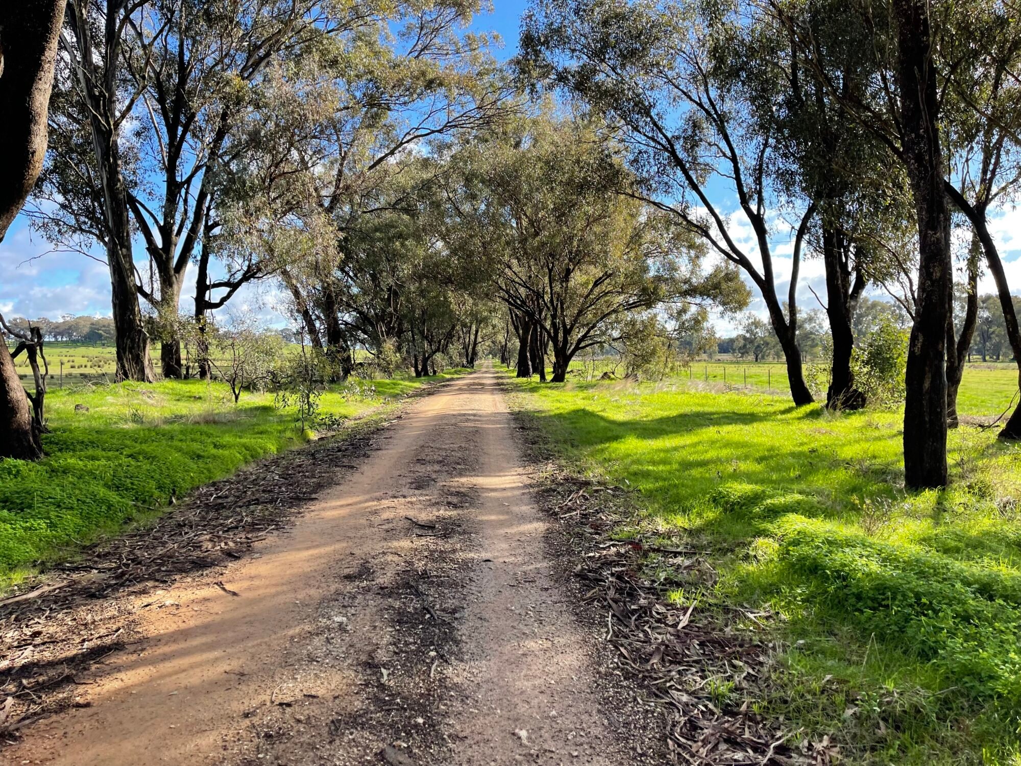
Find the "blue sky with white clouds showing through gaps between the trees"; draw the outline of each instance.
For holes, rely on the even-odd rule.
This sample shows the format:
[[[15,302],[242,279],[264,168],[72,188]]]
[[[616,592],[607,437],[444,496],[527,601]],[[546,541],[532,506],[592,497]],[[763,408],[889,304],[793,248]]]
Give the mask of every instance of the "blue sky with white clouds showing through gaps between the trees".
[[[494,53],[501,59],[517,52],[519,25],[522,12],[527,7],[526,0],[497,0],[491,13],[480,15],[472,28],[475,31],[498,33],[503,45]],[[726,193],[721,194],[719,204],[722,209],[732,209],[727,203]],[[1015,208],[1000,210],[991,222],[992,234],[1001,253],[1007,261],[1006,268],[1010,284],[1015,292],[1021,290],[1021,213]],[[775,222],[778,235],[775,245],[775,270],[778,274],[778,292],[787,292],[783,276],[790,271],[790,243],[786,236],[788,227]],[[745,252],[753,252],[750,228],[742,221],[734,223],[734,232],[739,243],[746,245]],[[142,252],[142,247],[137,248]],[[97,255],[101,252],[97,250]],[[88,258],[77,252],[62,252],[38,234],[33,234],[25,217],[15,220],[7,236],[0,243],[0,312],[7,317],[48,317],[59,318],[64,314],[108,316],[109,275],[104,264]],[[186,276],[182,310],[191,310],[193,292],[192,275]],[[818,307],[809,287],[820,295],[825,293],[822,264],[817,259],[807,260],[801,268],[801,287],[798,300],[806,308]],[[993,290],[987,278],[983,279],[981,290]],[[285,323],[282,312],[284,303],[278,286],[266,280],[240,291],[232,300],[234,310],[247,310],[259,315],[266,324]],[[752,302],[752,310],[762,313],[762,300]],[[726,330],[726,323],[721,329]]]

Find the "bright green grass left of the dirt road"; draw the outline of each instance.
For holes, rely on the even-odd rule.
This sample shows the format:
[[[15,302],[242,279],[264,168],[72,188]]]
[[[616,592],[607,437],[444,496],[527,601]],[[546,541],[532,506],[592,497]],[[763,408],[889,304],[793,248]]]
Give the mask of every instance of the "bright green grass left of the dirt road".
[[[321,397],[320,414],[360,416],[444,377],[335,386]],[[223,383],[65,388],[46,402],[46,457],[0,461],[0,589],[41,562],[65,558],[307,438],[292,413],[274,406],[273,394],[244,393],[235,406]]]

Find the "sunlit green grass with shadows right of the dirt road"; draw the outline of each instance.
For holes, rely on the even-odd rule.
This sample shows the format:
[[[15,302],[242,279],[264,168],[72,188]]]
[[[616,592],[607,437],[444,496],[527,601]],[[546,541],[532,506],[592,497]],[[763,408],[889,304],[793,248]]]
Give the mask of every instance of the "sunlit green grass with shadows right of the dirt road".
[[[780,647],[749,704],[853,763],[1021,764],[1021,448],[959,429],[952,487],[907,493],[900,413],[518,385],[562,458],[640,493],[636,527],[713,552],[713,585],[665,588],[773,616],[741,624]]]

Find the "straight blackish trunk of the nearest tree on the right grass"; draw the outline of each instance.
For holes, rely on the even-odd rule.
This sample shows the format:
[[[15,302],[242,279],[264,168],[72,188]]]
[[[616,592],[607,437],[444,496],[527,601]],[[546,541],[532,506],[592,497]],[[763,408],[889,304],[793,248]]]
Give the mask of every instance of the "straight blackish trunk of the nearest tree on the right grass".
[[[904,410],[905,484],[946,485],[946,324],[952,306],[951,216],[943,188],[939,99],[925,0],[894,0],[902,145],[918,219],[915,323]]]

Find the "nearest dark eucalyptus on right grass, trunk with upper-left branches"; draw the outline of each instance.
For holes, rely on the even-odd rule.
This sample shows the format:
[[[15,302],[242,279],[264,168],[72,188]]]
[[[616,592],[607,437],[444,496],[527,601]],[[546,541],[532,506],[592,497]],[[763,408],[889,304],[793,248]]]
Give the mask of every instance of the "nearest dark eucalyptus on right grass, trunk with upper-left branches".
[[[943,105],[937,48],[949,3],[926,0],[806,2],[771,0],[808,53],[813,76],[848,115],[881,140],[909,181],[918,230],[918,275],[908,352],[904,420],[905,481],[911,488],[946,484],[946,339],[953,262],[945,178]],[[861,41],[873,76],[844,89],[817,47],[806,9]]]

